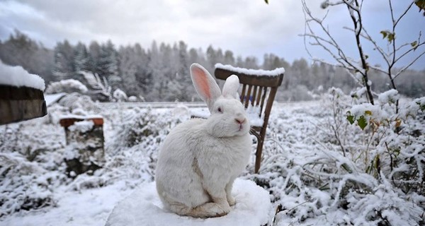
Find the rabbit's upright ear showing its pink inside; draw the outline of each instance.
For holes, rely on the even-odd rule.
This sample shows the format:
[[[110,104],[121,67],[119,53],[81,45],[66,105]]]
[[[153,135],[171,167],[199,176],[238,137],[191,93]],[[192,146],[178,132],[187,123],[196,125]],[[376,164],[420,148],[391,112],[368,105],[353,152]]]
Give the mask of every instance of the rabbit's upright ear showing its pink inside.
[[[215,100],[221,96],[220,88],[214,78],[200,64],[191,65],[191,78],[196,92],[207,103],[208,109],[212,112]]]

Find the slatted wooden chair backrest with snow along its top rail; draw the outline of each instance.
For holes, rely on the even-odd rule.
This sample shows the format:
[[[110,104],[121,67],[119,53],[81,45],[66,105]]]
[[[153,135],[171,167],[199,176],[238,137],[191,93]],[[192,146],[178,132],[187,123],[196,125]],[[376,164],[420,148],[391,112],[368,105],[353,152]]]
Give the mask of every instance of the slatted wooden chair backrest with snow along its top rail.
[[[277,72],[273,74],[273,72]],[[239,77],[239,83],[242,84],[241,102],[245,108],[249,105],[259,107],[259,117],[263,117],[264,124],[268,122],[268,116],[271,112],[274,98],[278,87],[282,84],[284,70],[233,70],[231,67],[215,66],[215,78],[225,80],[231,75]],[[264,104],[266,104],[264,106]]]

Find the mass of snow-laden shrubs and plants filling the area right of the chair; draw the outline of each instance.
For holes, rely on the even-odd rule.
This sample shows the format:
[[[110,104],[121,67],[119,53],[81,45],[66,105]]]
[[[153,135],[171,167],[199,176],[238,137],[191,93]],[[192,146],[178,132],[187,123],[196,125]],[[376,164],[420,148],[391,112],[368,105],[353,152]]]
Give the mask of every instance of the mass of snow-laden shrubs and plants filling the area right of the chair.
[[[244,177],[270,192],[276,225],[423,224],[424,99],[384,95],[368,105],[332,88],[310,112],[271,114],[260,172]]]

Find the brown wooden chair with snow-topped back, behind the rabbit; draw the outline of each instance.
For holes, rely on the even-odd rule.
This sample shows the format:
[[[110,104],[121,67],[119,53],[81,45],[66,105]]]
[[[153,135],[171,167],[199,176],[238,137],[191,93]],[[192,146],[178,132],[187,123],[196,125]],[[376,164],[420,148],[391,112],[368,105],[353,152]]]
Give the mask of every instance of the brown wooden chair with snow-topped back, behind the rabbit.
[[[241,102],[245,108],[259,107],[259,118],[263,119],[262,125],[252,125],[251,134],[257,138],[255,172],[259,172],[261,166],[261,154],[263,152],[264,138],[268,117],[273,106],[273,101],[278,91],[278,87],[283,81],[284,69],[273,71],[251,70],[232,68],[231,66],[215,65],[215,78],[225,80],[231,75],[239,77],[239,83],[242,84]]]

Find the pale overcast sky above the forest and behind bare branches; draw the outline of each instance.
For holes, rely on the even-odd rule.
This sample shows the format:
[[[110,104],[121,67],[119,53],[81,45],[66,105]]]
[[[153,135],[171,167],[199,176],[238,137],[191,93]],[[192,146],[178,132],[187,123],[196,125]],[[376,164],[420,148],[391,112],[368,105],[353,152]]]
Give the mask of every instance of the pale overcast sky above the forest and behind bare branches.
[[[395,0],[396,13],[409,1],[412,0]],[[324,13],[319,7],[321,2],[310,0],[312,11]],[[369,32],[381,41],[380,30],[390,30],[387,1],[366,1],[363,8]],[[425,36],[425,17],[418,11],[415,6],[396,31],[399,43],[413,42],[419,30]],[[357,58],[353,35],[342,29],[344,25],[352,27],[346,8],[338,7],[328,19],[331,32],[346,44],[344,50]],[[300,57],[310,58],[299,36],[304,32],[304,21],[300,0],[269,0],[269,4],[263,0],[0,1],[0,40],[6,40],[18,29],[46,47],[67,39],[72,44],[111,40],[117,47],[138,42],[147,49],[152,40],[169,44],[183,40],[188,47],[201,47],[204,51],[211,44],[242,57],[258,57],[260,61],[263,54],[273,53],[292,62]],[[373,49],[366,51],[373,64],[382,64]],[[314,48],[312,54],[330,59]],[[414,68],[425,69],[425,56]]]

